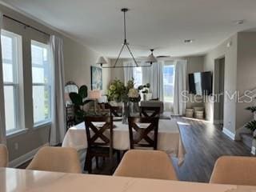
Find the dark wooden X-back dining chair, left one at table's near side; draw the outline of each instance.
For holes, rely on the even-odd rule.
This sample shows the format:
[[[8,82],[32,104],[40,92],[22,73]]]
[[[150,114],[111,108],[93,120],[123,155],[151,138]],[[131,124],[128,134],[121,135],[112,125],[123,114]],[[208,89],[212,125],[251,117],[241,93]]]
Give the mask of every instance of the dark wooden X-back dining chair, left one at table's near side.
[[[86,117],[85,123],[88,148],[84,170],[88,170],[91,174],[92,159],[96,158],[96,166],[98,166],[99,157],[110,158],[112,168],[114,153],[118,153],[113,149],[113,117]]]

